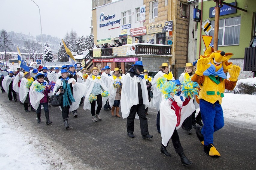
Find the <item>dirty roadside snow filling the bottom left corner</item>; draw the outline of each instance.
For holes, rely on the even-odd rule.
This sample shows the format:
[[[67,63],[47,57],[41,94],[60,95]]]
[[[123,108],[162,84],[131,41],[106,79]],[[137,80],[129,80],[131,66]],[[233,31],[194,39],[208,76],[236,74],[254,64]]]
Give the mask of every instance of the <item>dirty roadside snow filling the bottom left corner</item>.
[[[0,169],[73,169],[0,105]]]

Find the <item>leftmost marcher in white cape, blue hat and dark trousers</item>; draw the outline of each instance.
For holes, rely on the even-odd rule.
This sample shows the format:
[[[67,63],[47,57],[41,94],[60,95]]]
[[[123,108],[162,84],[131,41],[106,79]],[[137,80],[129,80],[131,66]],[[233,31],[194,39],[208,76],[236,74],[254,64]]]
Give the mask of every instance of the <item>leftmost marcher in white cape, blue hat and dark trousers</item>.
[[[16,92],[13,90],[13,83],[14,83],[14,79],[15,79],[15,76],[13,75],[13,72],[10,71],[9,72],[9,75],[7,75],[5,77],[5,79],[2,81],[2,86],[4,88],[4,90],[6,92],[8,92],[8,98],[10,101],[12,101],[12,99],[14,98],[14,101],[17,101],[17,94]],[[11,93],[13,94],[13,97],[11,95]]]

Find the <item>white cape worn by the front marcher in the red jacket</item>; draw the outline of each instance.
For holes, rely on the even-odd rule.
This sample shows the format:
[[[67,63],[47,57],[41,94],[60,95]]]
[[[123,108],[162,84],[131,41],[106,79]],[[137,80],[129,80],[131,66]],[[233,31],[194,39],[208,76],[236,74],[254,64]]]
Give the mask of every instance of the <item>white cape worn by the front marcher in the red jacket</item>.
[[[190,99],[186,106],[183,106],[181,109],[181,120],[180,124],[177,127],[180,128],[184,120],[191,115],[195,110],[195,106],[193,104],[193,99]],[[169,140],[172,137],[173,131],[177,125],[177,116],[175,114],[175,110],[171,108],[172,101],[163,100],[160,103],[160,130],[162,136],[162,144],[167,146]]]

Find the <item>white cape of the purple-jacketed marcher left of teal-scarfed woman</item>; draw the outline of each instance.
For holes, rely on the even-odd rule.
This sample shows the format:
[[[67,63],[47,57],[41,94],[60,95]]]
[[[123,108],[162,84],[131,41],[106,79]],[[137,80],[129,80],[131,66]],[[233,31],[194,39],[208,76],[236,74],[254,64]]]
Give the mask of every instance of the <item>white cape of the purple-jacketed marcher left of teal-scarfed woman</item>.
[[[44,80],[44,82],[46,81]],[[44,97],[44,94],[42,92],[35,91],[35,84],[39,84],[37,80],[30,86],[29,100],[33,108],[37,109],[40,104],[40,100]]]

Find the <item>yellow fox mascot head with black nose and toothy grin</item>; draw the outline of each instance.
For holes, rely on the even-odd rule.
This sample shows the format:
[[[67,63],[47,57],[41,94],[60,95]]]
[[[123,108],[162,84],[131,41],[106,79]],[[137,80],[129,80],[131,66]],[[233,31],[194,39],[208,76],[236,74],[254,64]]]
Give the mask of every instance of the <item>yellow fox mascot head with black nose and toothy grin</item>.
[[[200,55],[200,58],[208,58],[211,64],[215,66],[216,71],[223,67],[224,72],[227,72],[227,70],[233,65],[228,62],[233,55],[233,53],[215,51],[211,46],[209,46],[204,52],[204,55]]]

